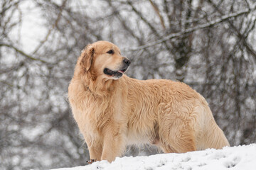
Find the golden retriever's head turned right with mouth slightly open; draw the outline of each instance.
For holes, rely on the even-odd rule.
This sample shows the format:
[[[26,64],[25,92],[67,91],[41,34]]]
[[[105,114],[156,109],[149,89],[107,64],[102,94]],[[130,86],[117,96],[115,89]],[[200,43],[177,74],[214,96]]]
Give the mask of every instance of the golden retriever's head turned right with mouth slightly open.
[[[80,66],[94,77],[119,79],[131,62],[121,55],[119,48],[107,41],[87,45],[80,56]]]

